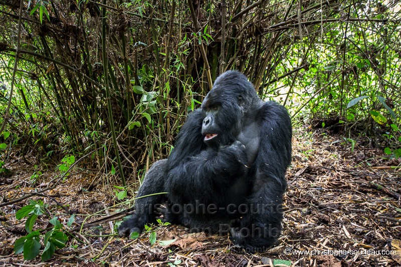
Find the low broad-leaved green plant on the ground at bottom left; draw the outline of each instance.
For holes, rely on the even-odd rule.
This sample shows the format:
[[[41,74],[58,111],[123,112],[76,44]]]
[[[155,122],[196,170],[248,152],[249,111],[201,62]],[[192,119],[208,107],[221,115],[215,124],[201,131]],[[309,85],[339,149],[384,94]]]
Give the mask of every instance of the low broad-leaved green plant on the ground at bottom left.
[[[28,217],[25,222],[25,229],[28,234],[16,240],[14,251],[16,254],[23,252],[25,260],[33,259],[39,255],[41,248],[40,240],[43,240],[44,249],[42,251],[42,260],[46,261],[52,257],[56,248],[65,247],[68,236],[64,233],[64,226],[56,216],[49,220],[49,223],[53,225],[53,228],[45,234],[43,234],[45,232],[43,229],[32,231],[38,216],[42,214],[48,215],[46,212],[48,205],[42,200],[35,201],[30,199],[29,202],[29,205],[22,207],[16,213],[16,218],[18,220]],[[70,225],[73,221],[74,217],[71,216],[69,220]]]

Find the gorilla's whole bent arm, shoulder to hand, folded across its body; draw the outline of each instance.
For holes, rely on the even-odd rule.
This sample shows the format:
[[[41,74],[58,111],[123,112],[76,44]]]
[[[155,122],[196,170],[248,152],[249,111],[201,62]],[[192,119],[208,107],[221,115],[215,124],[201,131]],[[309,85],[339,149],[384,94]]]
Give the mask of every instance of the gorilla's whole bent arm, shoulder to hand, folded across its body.
[[[246,171],[245,147],[235,142],[208,148],[201,133],[202,122],[200,109],[189,114],[168,157],[166,191],[172,202],[213,201]]]

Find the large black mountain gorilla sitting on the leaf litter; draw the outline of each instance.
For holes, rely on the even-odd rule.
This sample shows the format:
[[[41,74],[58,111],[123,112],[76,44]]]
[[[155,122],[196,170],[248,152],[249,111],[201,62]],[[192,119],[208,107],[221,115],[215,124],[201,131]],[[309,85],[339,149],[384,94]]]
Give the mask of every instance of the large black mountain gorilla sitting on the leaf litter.
[[[230,232],[246,248],[274,244],[291,137],[283,106],[262,101],[240,72],[225,72],[201,108],[188,115],[169,157],[149,169],[138,197],[168,194],[137,199],[119,234],[141,232],[161,211],[164,221],[190,231]]]

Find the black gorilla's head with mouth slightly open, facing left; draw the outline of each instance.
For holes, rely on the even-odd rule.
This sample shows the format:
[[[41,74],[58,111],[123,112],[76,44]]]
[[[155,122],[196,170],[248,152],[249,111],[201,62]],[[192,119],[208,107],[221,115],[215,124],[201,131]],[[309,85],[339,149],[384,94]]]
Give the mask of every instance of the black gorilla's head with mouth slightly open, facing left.
[[[249,112],[260,105],[261,100],[245,75],[225,72],[216,79],[202,103],[204,142],[209,147],[232,143],[247,123]]]

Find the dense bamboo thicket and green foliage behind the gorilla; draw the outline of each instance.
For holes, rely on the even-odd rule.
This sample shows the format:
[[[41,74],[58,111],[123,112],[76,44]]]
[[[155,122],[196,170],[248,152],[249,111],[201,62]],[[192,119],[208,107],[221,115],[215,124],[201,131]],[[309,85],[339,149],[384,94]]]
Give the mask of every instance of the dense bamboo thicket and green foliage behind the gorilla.
[[[398,157],[400,20],[392,0],[0,0],[0,162],[86,156],[125,185],[227,69],[294,124]]]

